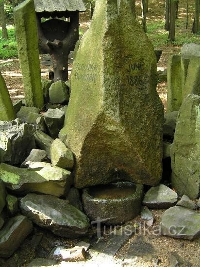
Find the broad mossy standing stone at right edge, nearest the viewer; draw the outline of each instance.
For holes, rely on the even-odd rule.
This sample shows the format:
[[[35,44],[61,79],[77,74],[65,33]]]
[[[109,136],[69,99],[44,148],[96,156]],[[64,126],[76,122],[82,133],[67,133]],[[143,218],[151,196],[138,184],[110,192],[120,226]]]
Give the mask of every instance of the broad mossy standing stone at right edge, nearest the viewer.
[[[180,109],[171,147],[172,186],[180,195],[200,195],[200,97],[188,95]]]

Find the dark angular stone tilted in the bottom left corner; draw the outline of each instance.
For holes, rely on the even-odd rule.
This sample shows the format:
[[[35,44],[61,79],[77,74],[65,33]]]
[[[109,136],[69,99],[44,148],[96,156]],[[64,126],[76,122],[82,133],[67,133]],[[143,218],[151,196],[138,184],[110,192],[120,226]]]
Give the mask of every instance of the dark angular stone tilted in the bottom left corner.
[[[33,224],[25,216],[12,217],[0,230],[0,257],[9,258],[32,232]]]

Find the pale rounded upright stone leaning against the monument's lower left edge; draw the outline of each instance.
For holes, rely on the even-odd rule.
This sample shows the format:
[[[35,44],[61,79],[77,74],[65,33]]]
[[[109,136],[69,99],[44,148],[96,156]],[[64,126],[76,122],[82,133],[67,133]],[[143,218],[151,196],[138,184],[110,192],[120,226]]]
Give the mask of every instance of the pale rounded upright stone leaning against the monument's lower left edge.
[[[64,169],[72,169],[74,166],[73,153],[60,139],[55,139],[51,144],[50,159],[53,166]]]

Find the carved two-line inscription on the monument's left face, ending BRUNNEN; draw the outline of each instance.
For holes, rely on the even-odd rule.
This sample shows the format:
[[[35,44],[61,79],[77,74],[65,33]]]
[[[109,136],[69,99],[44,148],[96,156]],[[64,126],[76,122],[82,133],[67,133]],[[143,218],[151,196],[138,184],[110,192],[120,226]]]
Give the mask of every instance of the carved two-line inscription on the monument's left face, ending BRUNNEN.
[[[81,64],[78,62],[75,66],[75,79],[96,83],[97,80],[97,65]]]

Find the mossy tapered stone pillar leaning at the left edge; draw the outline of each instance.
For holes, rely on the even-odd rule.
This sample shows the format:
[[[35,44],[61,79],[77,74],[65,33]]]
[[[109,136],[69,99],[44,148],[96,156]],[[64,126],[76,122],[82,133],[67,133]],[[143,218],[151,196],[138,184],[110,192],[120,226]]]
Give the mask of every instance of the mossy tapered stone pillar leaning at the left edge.
[[[0,73],[0,120],[14,120],[16,114],[8,92],[8,88]]]

